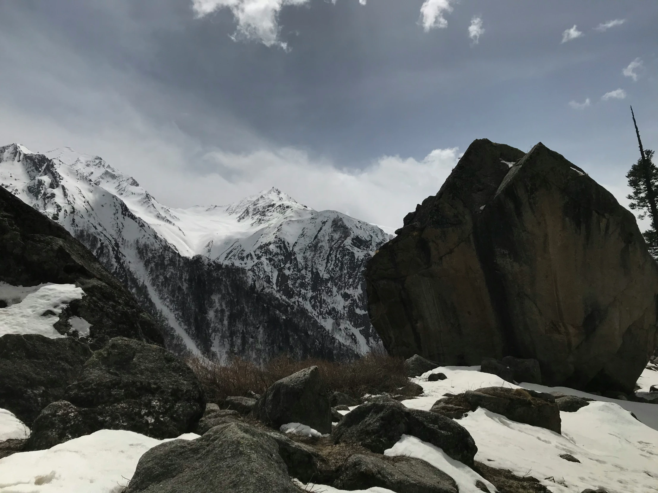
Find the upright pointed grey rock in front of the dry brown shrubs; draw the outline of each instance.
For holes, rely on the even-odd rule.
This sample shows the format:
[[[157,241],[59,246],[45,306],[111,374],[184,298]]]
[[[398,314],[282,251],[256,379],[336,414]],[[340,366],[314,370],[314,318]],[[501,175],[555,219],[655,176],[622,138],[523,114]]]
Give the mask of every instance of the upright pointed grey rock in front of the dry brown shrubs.
[[[331,406],[318,367],[274,382],[256,402],[253,415],[277,429],[286,423],[302,423],[331,433]]]

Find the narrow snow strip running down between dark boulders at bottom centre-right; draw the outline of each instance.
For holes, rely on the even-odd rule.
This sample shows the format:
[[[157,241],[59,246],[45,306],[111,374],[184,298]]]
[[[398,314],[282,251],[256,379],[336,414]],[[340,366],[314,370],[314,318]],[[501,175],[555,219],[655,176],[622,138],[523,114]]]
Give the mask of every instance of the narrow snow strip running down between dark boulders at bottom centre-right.
[[[384,455],[415,457],[430,463],[436,469],[440,469],[440,471],[443,471],[455,480],[459,487],[459,493],[480,493],[482,490],[475,486],[475,483],[478,481],[484,482],[485,486],[491,492],[496,491],[493,484],[470,469],[470,467],[450,458],[436,445],[423,442],[415,436],[403,434],[392,448],[384,450]]]

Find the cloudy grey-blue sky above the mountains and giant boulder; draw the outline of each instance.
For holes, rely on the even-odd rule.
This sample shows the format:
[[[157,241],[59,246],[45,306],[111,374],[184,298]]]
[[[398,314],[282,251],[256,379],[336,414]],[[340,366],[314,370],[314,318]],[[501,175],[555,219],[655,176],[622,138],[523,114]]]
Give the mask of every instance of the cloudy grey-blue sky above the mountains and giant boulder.
[[[0,145],[102,156],[168,206],[277,187],[399,227],[474,139],[627,205],[658,147],[658,2],[9,0]]]

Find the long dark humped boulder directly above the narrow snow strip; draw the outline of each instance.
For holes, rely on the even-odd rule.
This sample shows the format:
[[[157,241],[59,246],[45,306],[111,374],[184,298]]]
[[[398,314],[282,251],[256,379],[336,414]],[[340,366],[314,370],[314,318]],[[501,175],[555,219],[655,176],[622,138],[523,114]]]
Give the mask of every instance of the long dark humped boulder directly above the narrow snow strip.
[[[383,454],[403,434],[416,436],[443,449],[451,458],[473,464],[478,448],[470,433],[442,415],[405,408],[399,402],[368,402],[351,411],[336,425],[334,443],[347,442]]]

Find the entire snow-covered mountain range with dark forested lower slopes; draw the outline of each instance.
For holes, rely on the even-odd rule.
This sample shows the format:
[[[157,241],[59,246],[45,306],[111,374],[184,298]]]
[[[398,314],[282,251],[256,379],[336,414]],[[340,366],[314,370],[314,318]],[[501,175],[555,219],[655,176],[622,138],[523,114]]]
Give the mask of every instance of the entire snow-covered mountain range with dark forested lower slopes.
[[[379,342],[361,271],[390,239],[380,227],[277,189],[169,208],[99,156],[69,148],[0,147],[0,184],[89,247],[171,327],[172,344],[261,360],[282,350],[363,354]]]

